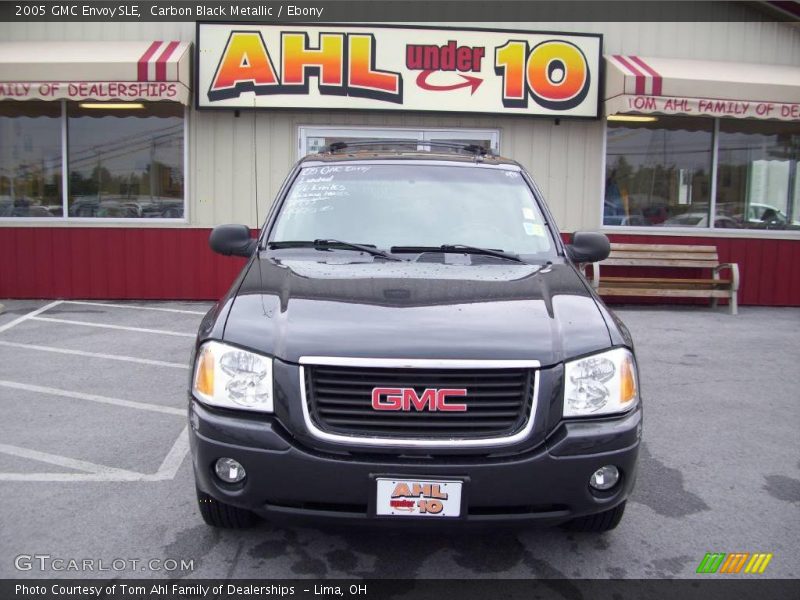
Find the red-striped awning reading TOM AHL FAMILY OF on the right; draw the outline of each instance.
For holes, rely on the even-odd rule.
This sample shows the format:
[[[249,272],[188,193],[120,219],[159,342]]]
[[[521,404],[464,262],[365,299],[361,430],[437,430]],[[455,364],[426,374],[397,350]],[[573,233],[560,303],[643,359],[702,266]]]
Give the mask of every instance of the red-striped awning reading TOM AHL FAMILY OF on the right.
[[[800,121],[800,68],[606,56],[605,113]]]

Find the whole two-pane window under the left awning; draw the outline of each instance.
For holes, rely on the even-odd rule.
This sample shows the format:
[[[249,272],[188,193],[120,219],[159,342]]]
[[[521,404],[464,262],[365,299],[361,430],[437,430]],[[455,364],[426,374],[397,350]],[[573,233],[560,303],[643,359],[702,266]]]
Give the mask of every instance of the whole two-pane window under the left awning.
[[[175,102],[0,102],[0,219],[183,218],[183,115]]]

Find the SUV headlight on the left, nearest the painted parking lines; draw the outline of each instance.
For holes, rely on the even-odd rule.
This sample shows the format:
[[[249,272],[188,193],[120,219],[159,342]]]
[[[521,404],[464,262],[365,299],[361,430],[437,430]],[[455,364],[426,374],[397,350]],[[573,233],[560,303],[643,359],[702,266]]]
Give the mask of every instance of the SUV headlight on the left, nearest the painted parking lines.
[[[206,342],[197,353],[192,391],[212,406],[272,412],[272,359]]]

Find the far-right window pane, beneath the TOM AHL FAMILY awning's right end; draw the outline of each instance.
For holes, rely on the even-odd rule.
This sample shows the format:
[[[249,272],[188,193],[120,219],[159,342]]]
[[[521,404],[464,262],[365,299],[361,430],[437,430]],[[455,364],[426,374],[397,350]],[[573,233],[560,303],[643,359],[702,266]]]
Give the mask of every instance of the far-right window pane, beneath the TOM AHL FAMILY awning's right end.
[[[718,145],[717,219],[800,230],[800,124],[725,119]]]

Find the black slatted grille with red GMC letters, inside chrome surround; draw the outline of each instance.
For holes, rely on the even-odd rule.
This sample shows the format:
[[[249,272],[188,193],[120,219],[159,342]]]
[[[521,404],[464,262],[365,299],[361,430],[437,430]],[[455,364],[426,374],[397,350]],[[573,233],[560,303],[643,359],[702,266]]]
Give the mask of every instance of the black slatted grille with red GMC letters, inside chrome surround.
[[[530,415],[535,371],[531,369],[426,369],[307,365],[306,400],[323,431],[385,438],[477,439],[512,435]],[[379,411],[372,390],[466,389],[464,412]]]

